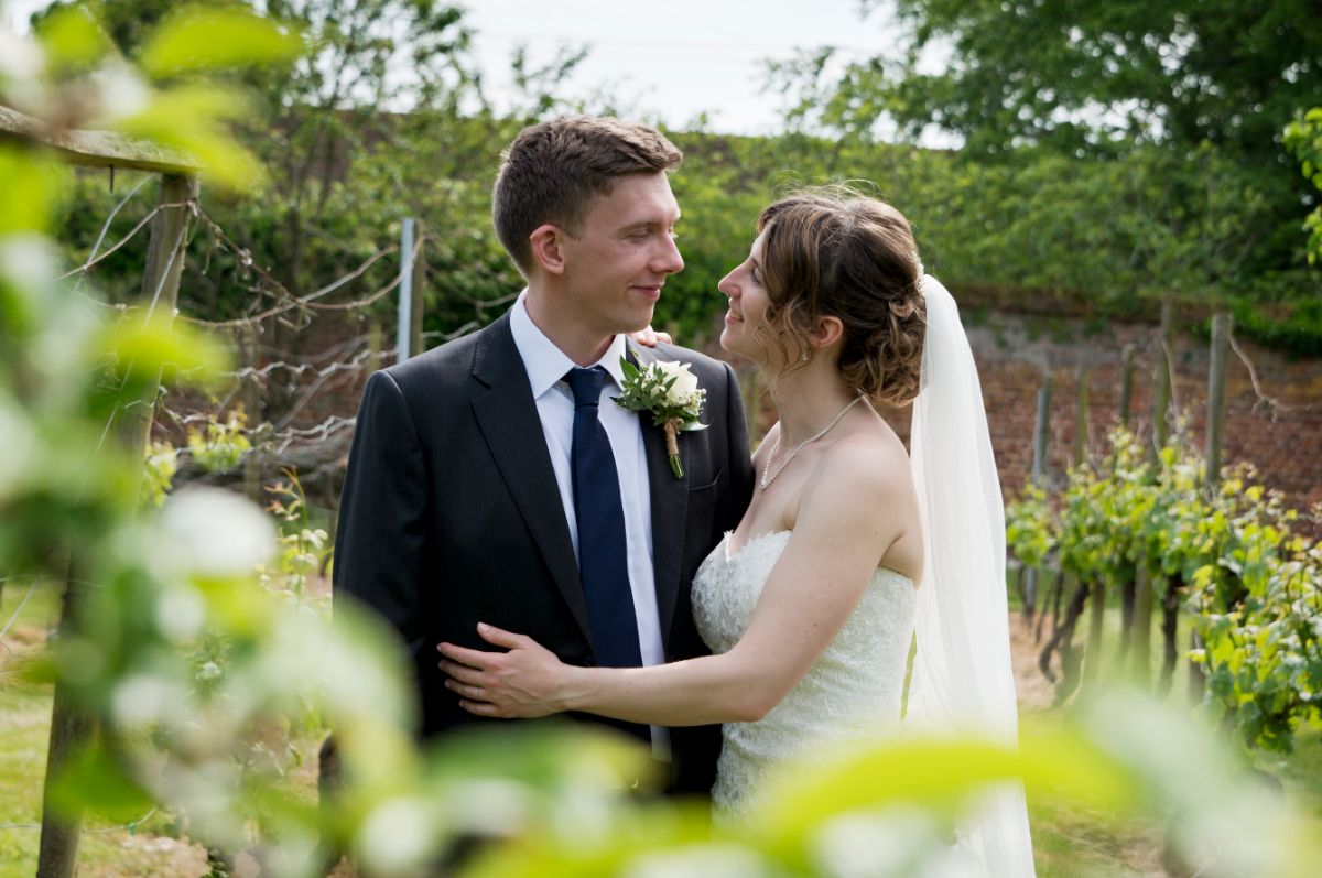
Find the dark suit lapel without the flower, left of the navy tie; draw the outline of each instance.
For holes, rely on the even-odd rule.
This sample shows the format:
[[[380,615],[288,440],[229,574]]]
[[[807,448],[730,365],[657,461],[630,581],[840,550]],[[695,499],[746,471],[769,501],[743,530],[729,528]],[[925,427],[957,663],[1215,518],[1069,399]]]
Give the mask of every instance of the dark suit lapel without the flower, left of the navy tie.
[[[583,629],[583,636],[592,643],[578,561],[574,558],[568,521],[561,505],[561,489],[555,483],[542,420],[529,389],[524,361],[514,345],[508,313],[483,333],[473,357],[473,377],[488,387],[486,393],[473,398],[477,426],[557,588]]]

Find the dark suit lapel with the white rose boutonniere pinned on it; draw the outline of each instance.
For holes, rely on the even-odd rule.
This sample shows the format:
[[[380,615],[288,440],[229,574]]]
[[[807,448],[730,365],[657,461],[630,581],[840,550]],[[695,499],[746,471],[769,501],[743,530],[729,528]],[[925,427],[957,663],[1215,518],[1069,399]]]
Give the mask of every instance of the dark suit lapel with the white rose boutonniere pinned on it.
[[[657,357],[646,348],[629,344],[631,358],[640,366]],[[670,624],[680,599],[680,574],[683,565],[683,525],[689,508],[687,443],[680,438],[680,459],[685,477],[676,479],[670,471],[665,450],[665,431],[652,423],[652,415],[639,413],[642,446],[648,458],[648,488],[652,493],[652,574],[656,579],[657,612],[661,621],[661,643],[670,641]]]

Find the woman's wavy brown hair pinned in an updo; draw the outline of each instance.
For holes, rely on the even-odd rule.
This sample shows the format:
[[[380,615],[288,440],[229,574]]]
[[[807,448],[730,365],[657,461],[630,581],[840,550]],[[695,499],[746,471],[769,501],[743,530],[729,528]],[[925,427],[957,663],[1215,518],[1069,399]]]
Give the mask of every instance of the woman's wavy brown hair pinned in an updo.
[[[927,316],[908,220],[849,189],[814,189],[763,210],[758,233],[765,321],[780,329],[787,370],[806,361],[817,320],[838,317],[845,381],[876,403],[912,402]]]

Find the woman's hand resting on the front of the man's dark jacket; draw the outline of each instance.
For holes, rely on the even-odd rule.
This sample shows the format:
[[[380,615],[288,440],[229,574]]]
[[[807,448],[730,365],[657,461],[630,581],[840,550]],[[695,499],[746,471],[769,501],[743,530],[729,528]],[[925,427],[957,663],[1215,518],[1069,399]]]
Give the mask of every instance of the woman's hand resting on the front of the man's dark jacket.
[[[559,694],[570,666],[531,637],[477,624],[483,640],[509,652],[484,652],[443,643],[446,688],[459,694],[459,706],[479,717],[533,719],[559,713]]]

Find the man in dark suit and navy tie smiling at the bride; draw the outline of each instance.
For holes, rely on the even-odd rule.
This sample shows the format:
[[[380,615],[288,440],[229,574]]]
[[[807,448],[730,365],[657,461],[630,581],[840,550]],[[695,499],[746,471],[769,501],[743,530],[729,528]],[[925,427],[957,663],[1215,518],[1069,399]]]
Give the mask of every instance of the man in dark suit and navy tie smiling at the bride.
[[[368,381],[334,599],[368,604],[399,632],[424,737],[481,722],[444,688],[436,652],[443,640],[486,648],[479,621],[580,665],[706,652],[689,587],[752,491],[739,389],[720,362],[627,337],[683,267],[666,177],[681,157],[661,134],[617,119],[524,130],[492,213],[526,290],[485,329]],[[706,390],[710,428],[680,435],[682,479],[652,417],[612,402],[625,354],[690,364]],[[625,730],[669,763],[672,791],[710,789],[715,726]]]

